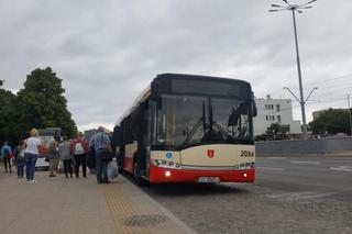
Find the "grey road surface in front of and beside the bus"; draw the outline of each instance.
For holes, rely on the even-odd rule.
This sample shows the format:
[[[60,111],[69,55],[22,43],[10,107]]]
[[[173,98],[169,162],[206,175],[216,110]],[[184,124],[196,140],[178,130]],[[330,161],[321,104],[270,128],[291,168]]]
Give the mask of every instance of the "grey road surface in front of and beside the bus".
[[[199,233],[352,233],[352,157],[258,157],[253,185],[143,190]]]

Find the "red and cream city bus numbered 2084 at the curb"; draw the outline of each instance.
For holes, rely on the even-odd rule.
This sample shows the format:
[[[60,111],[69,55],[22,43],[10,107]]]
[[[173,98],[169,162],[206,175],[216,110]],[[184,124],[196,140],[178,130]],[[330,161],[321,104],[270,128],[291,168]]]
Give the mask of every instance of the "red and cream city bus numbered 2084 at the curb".
[[[119,171],[135,182],[254,182],[251,85],[243,80],[162,74],[118,120]]]

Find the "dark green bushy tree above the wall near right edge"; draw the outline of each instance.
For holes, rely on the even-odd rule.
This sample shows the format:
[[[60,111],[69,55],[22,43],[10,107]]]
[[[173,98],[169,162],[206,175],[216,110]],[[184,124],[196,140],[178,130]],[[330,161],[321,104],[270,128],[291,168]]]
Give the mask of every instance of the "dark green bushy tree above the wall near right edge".
[[[309,125],[314,134],[349,134],[349,111],[329,109],[327,112],[321,113],[319,118],[310,122]]]

